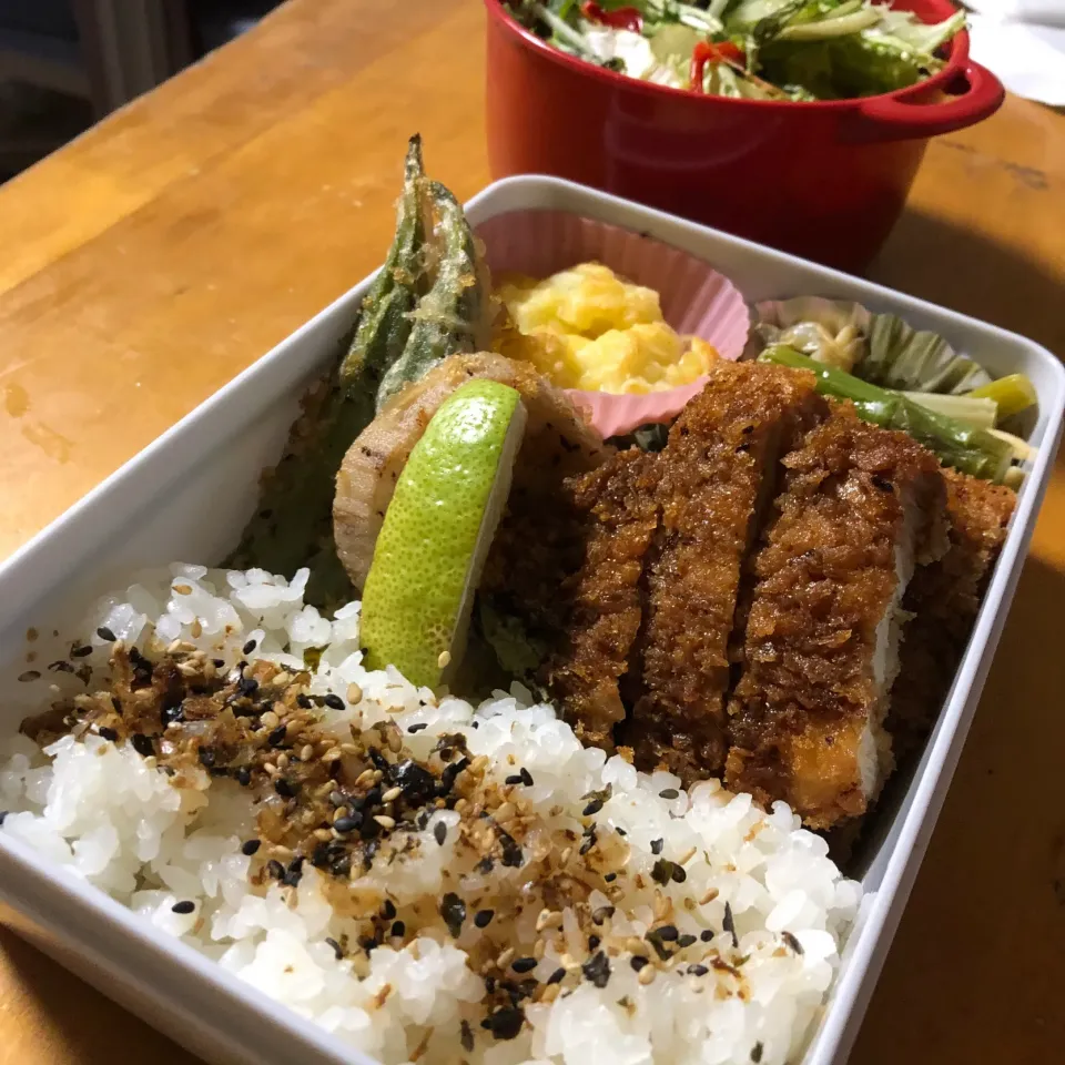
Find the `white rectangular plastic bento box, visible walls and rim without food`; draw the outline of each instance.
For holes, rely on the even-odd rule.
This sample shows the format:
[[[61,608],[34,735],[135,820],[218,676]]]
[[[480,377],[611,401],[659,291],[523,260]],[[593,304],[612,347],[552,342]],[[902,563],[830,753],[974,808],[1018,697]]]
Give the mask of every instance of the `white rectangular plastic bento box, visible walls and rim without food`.
[[[1003,329],[790,255],[548,178],[497,182],[467,205],[476,226],[511,211],[552,209],[646,233],[707,260],[749,300],[818,294],[856,300],[943,334],[993,374],[1026,373],[1039,395],[1038,457],[968,651],[924,755],[894,807],[879,811],[862,876],[869,893],[832,998],[804,1059],[843,1062],[939,814],[1006,619],[1049,477],[1065,407],[1065,369]],[[233,546],[274,462],[304,385],[337,351],[368,285],[357,285],[193,410],[0,566],[3,673],[18,672],[31,626],[141,566],[212,562]],[[83,577],[82,575],[91,575]],[[18,728],[4,703],[4,730]],[[10,717],[11,720],[7,720]],[[2,916],[17,931],[150,1024],[211,1062],[368,1063],[178,941],[161,937],[102,892],[0,838]]]

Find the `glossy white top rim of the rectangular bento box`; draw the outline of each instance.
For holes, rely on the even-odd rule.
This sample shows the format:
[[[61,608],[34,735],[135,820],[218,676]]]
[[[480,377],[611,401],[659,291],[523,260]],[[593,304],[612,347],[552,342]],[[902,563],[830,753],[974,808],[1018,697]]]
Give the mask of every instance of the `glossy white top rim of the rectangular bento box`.
[[[720,244],[741,247],[781,270],[800,268],[804,273],[812,272],[826,285],[835,283],[851,290],[858,290],[870,302],[889,305],[902,304],[911,310],[932,312],[950,320],[960,327],[976,329],[1012,347],[1023,347],[1030,356],[1036,358],[1043,365],[1053,381],[1053,392],[1055,394],[1041,397],[1041,402],[1045,398],[1048,406],[1039,453],[1028,475],[1026,489],[1020,500],[1010,536],[987,589],[965,658],[958,668],[952,696],[941,713],[936,732],[929,744],[921,771],[914,775],[910,784],[911,808],[903,819],[894,848],[888,855],[881,886],[865,911],[862,926],[858,930],[852,942],[848,944],[846,970],[833,988],[830,1004],[825,1010],[814,1042],[803,1057],[803,1065],[828,1065],[829,1062],[834,1059],[839,1049],[845,1049],[845,1046],[843,1046],[844,1037],[846,1035],[853,1037],[853,1031],[848,1032],[848,1023],[854,1013],[860,996],[868,997],[871,993],[872,985],[866,981],[870,965],[878,950],[885,945],[883,941],[889,920],[896,921],[901,912],[904,894],[900,893],[900,889],[909,890],[907,881],[912,881],[913,875],[915,875],[924,845],[931,834],[946,785],[950,782],[954,763],[961,752],[964,728],[967,728],[968,719],[971,719],[975,709],[974,706],[967,706],[971,702],[970,696],[974,684],[978,679],[982,680],[982,673],[986,672],[988,666],[983,660],[983,651],[993,639],[997,638],[1003,626],[1004,617],[998,608],[1004,600],[1012,598],[1021,564],[1031,539],[1035,514],[1046,490],[1051,464],[1061,438],[1063,407],[1065,407],[1065,367],[1044,347],[1016,333],[1011,333],[896,290],[810,263],[785,252],[775,251],[719,230],[688,222],[666,212],[645,207],[560,179],[540,175],[504,179],[494,182],[475,195],[466,207],[471,222],[476,225],[498,214],[516,210],[529,210],[532,202],[544,196],[552,200],[552,209],[585,214],[628,229],[659,227],[694,236],[710,235]],[[526,202],[523,204],[519,201]],[[656,236],[660,241],[670,243],[668,235],[657,233]],[[362,296],[375,275],[376,271],[334,300],[267,354],[241,371],[226,385],[197,405],[154,442],[104,478],[64,514],[18,548],[3,562],[0,562],[0,602],[7,605],[10,601],[4,591],[11,589],[12,586],[12,590],[22,592],[14,596],[16,600],[24,600],[27,589],[45,585],[49,579],[49,567],[43,564],[47,562],[51,548],[61,546],[60,541],[63,540],[72,544],[73,541],[70,539],[71,530],[75,530],[78,525],[98,508],[105,507],[123,483],[129,480],[141,467],[156,460],[175,442],[194,434],[201,419],[217,407],[229,405],[251,382],[285,358],[286,354],[316,326],[327,322],[337,312],[353,306],[355,300]],[[960,729],[962,729],[961,733]],[[193,978],[199,977],[223,994],[233,996],[247,1010],[256,1014],[258,1018],[268,1022],[271,1025],[281,1026],[294,1037],[303,1041],[307,1049],[325,1055],[327,1059],[337,1063],[357,1062],[362,1065],[372,1065],[369,1057],[346,1044],[342,1044],[311,1022],[301,1018],[288,1010],[278,1012],[277,1003],[273,1000],[267,998],[263,993],[224,971],[215,962],[204,957],[187,944],[156,937],[139,916],[121,903],[110,899],[98,889],[53,868],[45,859],[18,841],[0,836],[0,856],[6,860],[6,864],[7,860],[10,860],[13,866],[11,868],[12,873],[21,874],[26,879],[23,884],[26,889],[33,889],[34,886],[47,889],[51,886],[58,890],[67,905],[82,909],[84,917],[102,919],[108,922],[114,934],[121,934],[134,941],[139,950],[151,952],[155,961],[172,961],[179,970],[184,971],[183,975]],[[37,881],[36,885],[33,884],[34,880]],[[9,892],[9,885],[14,890]],[[0,895],[9,895],[10,897],[11,895],[27,894],[26,891],[20,892],[18,889],[19,884],[9,880],[3,888],[0,888]],[[32,894],[29,897],[32,899]],[[83,933],[79,931],[73,920],[64,921],[54,915],[49,919],[47,913],[39,912],[38,907],[31,903],[26,903],[20,909],[23,909],[29,916],[41,920],[45,925],[51,923],[61,934],[70,936],[75,945],[75,951],[81,946],[83,951],[91,952],[91,945],[85,945],[88,941],[79,939],[79,935],[83,935]],[[63,916],[74,919],[78,914],[74,909],[71,909]],[[182,974],[179,973],[178,975]],[[173,994],[159,986],[148,988],[146,993],[149,996],[165,994],[171,998]],[[217,1021],[205,1020],[204,1023],[217,1026]]]

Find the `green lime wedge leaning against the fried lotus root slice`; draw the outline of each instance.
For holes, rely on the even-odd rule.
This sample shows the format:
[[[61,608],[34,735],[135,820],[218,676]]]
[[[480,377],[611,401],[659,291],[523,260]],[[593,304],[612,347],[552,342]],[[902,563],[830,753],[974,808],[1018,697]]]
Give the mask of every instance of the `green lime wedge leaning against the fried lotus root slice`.
[[[525,433],[518,393],[470,381],[446,399],[399,475],[363,589],[369,669],[435,688],[462,661],[474,594]]]

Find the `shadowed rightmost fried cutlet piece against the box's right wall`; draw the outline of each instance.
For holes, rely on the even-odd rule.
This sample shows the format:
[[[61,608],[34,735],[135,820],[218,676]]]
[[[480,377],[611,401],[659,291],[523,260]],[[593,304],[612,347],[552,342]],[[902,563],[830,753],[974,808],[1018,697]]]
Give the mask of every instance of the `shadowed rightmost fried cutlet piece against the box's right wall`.
[[[899,758],[919,748],[939,717],[965,646],[1017,497],[1002,485],[944,469],[950,546],[913,576],[903,607],[906,626],[888,731]]]

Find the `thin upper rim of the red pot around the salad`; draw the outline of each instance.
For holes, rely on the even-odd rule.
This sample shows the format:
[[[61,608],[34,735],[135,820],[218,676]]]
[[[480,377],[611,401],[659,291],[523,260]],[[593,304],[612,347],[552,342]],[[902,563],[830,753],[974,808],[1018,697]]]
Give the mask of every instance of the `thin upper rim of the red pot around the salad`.
[[[925,0],[929,7],[935,9],[937,19],[947,19],[958,9],[950,0]],[[890,4],[894,7],[894,3]],[[825,111],[848,111],[858,110],[870,101],[905,101],[909,97],[920,92],[924,93],[930,89],[945,90],[946,87],[964,75],[968,60],[968,31],[960,30],[951,40],[950,53],[943,69],[919,81],[914,85],[906,85],[904,89],[895,89],[893,92],[882,92],[874,97],[854,97],[850,100],[750,100],[746,97],[716,97],[702,92],[694,92],[691,89],[674,89],[672,85],[660,85],[651,81],[641,81],[638,78],[629,78],[627,74],[618,73],[613,70],[607,70],[604,67],[596,67],[592,63],[570,55],[567,52],[551,48],[547,41],[541,40],[535,33],[530,33],[514,16],[504,0],[485,0],[485,7],[488,9],[488,18],[495,19],[497,24],[503,27],[508,33],[518,38],[527,48],[534,49],[545,59],[559,67],[567,68],[576,73],[584,74],[587,78],[600,81],[605,84],[612,84],[617,88],[625,88],[631,92],[642,93],[648,97],[658,97],[666,99],[674,97],[678,100],[701,101],[706,106],[736,106],[769,110],[773,108],[785,108],[789,111],[825,112]]]

